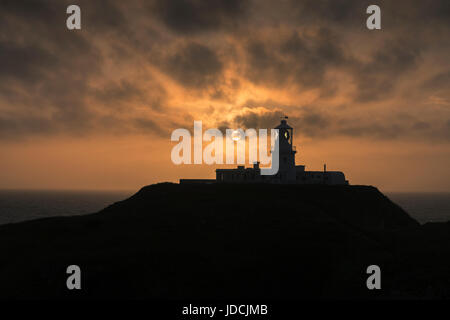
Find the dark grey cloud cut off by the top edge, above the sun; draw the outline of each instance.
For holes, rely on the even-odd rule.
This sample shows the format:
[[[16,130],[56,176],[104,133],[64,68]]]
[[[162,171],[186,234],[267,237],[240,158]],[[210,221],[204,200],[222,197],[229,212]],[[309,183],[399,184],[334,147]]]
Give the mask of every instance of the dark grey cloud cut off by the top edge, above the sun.
[[[247,11],[247,0],[154,1],[151,11],[180,34],[217,31],[235,26]]]

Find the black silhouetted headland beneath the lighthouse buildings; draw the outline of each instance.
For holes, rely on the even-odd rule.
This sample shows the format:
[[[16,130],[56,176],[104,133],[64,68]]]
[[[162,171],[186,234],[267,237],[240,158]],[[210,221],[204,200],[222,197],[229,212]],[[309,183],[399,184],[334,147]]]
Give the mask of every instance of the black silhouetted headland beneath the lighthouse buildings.
[[[449,298],[449,240],[449,223],[420,225],[370,186],[161,183],[0,226],[0,298]]]

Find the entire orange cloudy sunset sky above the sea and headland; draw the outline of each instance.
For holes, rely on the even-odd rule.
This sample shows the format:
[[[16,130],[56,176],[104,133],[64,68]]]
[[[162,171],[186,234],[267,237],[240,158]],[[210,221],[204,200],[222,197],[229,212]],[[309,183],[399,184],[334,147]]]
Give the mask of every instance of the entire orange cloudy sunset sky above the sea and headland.
[[[287,115],[307,170],[450,192],[449,57],[448,0],[2,0],[0,189],[213,178],[172,163],[173,130]]]

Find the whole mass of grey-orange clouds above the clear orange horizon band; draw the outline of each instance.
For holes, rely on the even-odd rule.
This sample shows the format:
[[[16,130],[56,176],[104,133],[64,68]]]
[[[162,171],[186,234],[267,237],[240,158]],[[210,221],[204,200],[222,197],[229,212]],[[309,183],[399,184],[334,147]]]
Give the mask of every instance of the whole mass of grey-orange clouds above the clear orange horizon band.
[[[448,136],[448,1],[380,1],[380,32],[358,0],[81,0],[79,32],[69,4],[0,3],[0,139],[284,114],[314,139]]]

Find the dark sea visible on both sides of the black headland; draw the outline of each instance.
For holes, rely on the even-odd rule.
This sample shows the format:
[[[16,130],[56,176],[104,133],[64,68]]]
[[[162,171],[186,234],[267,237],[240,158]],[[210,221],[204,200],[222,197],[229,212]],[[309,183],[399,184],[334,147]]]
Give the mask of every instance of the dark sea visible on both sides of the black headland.
[[[0,224],[95,213],[135,191],[0,190]],[[450,221],[449,193],[386,192],[420,223]]]

